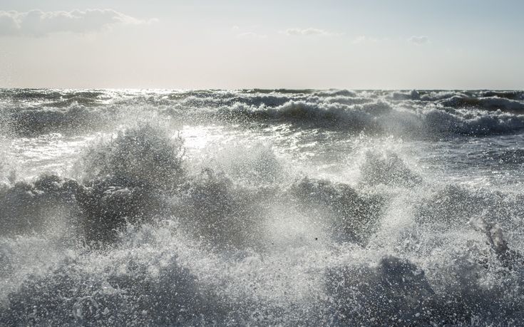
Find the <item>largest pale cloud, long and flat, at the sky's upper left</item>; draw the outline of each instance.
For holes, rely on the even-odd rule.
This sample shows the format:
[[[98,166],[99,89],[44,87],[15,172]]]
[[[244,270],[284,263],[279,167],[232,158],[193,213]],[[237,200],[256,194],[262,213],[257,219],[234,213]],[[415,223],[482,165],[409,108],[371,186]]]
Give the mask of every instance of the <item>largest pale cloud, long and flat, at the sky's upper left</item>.
[[[0,11],[0,36],[47,36],[51,33],[88,33],[114,25],[153,23],[143,21],[112,9],[86,11]]]

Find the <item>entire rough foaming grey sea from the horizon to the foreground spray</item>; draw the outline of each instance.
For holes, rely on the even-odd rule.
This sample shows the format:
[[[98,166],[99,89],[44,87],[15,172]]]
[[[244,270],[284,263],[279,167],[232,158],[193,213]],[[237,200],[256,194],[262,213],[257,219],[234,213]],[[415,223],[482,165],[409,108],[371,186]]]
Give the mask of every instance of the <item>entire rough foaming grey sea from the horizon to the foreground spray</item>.
[[[524,321],[524,92],[0,90],[0,325]]]

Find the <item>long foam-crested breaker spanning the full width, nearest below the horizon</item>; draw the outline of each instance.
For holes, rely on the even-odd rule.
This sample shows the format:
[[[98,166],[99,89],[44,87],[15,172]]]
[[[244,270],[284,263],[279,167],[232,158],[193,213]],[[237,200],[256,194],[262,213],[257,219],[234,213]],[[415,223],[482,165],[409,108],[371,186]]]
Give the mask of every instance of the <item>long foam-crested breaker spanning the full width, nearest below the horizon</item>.
[[[499,135],[524,130],[524,116],[500,111],[483,113],[476,110],[443,110],[436,107],[405,109],[392,107],[384,102],[355,102],[359,104],[348,105],[345,100],[337,98],[323,103],[290,100],[274,107],[236,102],[229,106],[221,106],[217,110],[191,109],[191,105],[195,103],[177,103],[151,109],[153,112],[158,110],[160,115],[168,115],[180,123],[212,123],[216,120],[242,124],[284,123],[297,128],[324,128],[351,133],[422,138]],[[199,105],[197,108],[200,108]],[[62,109],[4,110],[4,114],[9,114],[4,117],[3,125],[7,133],[26,137],[46,133],[93,132],[123,123],[130,116],[140,117],[147,114],[140,113],[140,110],[133,111],[135,109],[136,107],[120,106],[95,109],[71,105]]]

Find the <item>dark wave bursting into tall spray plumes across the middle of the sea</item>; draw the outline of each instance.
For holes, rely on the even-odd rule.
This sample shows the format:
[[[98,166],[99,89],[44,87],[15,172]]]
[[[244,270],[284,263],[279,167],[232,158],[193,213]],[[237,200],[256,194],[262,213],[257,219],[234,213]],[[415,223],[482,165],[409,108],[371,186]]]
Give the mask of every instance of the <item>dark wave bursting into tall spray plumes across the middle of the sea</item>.
[[[177,217],[211,247],[257,244],[261,222],[282,206],[304,222],[323,226],[341,242],[366,244],[376,231],[387,198],[344,183],[314,178],[294,180],[267,147],[239,152],[196,174],[184,160],[183,140],[159,125],[139,123],[88,148],[76,165],[77,180],[43,175],[34,182],[11,181],[0,192],[3,234],[41,232],[46,217],[66,219],[87,242],[111,244],[126,224]],[[367,152],[360,167],[364,186],[420,187],[423,180],[392,152]],[[489,219],[524,214],[522,199],[446,185],[416,205],[420,224],[458,226],[489,204]],[[292,212],[292,213],[291,213]],[[509,219],[509,218],[508,218]],[[260,244],[259,244],[260,245]]]

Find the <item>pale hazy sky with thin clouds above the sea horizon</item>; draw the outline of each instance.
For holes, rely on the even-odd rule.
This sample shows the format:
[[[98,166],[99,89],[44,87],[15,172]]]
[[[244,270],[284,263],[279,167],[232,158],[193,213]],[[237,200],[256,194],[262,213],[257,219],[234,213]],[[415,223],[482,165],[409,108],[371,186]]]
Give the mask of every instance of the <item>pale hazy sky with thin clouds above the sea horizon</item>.
[[[0,88],[523,89],[524,1],[0,0]]]

